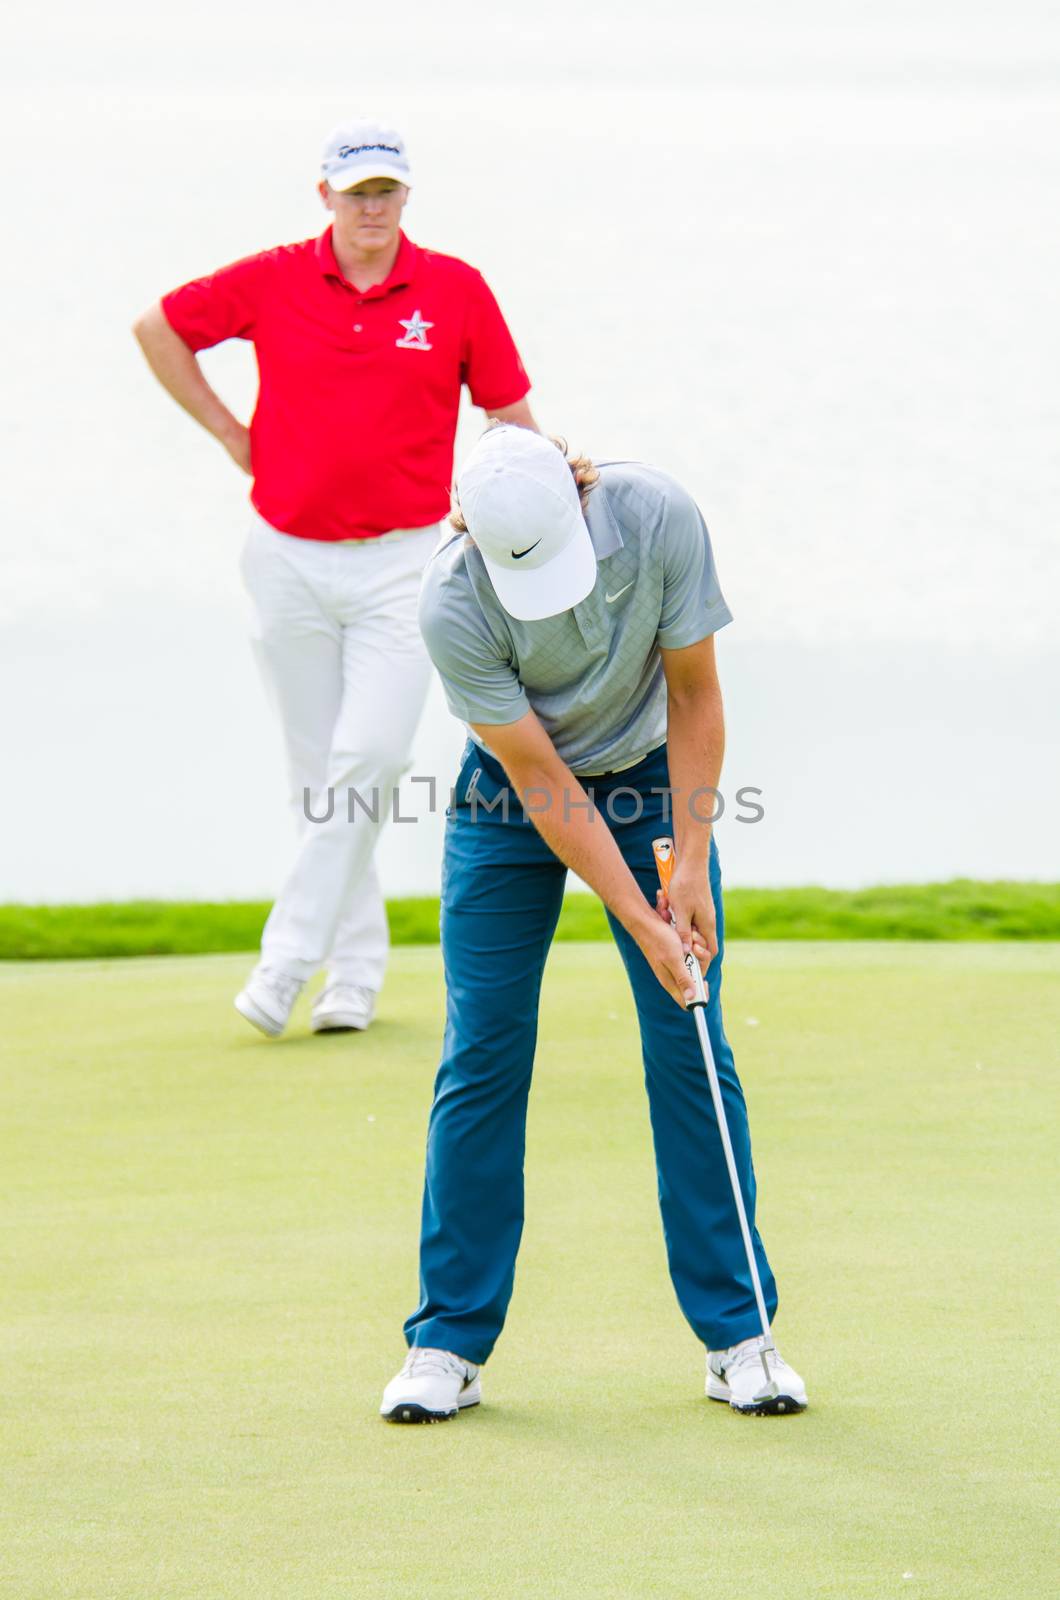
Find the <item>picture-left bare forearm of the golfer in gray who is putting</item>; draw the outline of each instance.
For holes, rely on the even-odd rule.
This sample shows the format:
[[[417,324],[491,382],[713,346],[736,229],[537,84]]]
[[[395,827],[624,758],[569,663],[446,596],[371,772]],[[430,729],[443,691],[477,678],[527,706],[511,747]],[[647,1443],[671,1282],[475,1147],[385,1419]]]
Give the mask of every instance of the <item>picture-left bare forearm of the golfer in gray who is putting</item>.
[[[512,776],[512,784],[549,850],[600,896],[636,938],[645,918],[655,914],[604,816],[591,808],[575,774],[568,768],[562,774],[552,770],[527,771]]]

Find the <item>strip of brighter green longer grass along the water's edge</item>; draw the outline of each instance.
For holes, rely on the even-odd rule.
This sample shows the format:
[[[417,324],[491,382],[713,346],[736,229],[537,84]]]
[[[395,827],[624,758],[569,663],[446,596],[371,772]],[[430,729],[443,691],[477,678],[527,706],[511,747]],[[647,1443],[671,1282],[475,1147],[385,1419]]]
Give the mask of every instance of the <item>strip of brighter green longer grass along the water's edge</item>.
[[[210,955],[253,950],[266,901],[128,901],[102,906],[0,906],[0,960]],[[395,946],[437,944],[439,902],[387,904]],[[1060,939],[1060,883],[890,885],[868,890],[725,891],[733,939]],[[592,894],[568,894],[557,939],[607,939]]]

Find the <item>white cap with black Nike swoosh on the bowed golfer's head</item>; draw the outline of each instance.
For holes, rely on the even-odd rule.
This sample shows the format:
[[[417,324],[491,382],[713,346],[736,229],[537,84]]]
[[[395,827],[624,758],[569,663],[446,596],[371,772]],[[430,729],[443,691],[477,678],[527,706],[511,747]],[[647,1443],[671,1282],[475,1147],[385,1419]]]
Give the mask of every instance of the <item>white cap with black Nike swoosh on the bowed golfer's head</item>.
[[[496,598],[522,622],[570,611],[596,582],[596,550],[562,450],[508,422],[456,475],[456,499]]]

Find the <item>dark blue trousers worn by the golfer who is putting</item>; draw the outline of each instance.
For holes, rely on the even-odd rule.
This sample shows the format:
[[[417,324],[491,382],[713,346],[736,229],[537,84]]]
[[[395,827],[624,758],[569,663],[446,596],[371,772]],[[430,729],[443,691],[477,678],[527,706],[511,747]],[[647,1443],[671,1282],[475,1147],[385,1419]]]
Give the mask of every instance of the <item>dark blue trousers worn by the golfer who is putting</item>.
[[[666,789],[668,781],[665,746],[623,773],[584,781],[599,808],[596,824],[610,827],[652,904],[658,888],[652,840],[673,834],[666,800],[652,789]],[[709,872],[719,950],[708,973],[706,1021],[772,1317],[777,1286],[754,1229],[748,1112],[722,1027],[724,920],[713,843]],[[428,1131],[421,1299],[405,1323],[410,1344],[455,1350],[469,1362],[490,1355],[516,1277],[538,998],[565,877],[501,765],[469,746],[445,824],[447,1019]],[[759,1333],[761,1323],[695,1022],[669,998],[626,930],[608,920],[640,1024],[669,1274],[693,1331],[709,1349],[725,1349]]]

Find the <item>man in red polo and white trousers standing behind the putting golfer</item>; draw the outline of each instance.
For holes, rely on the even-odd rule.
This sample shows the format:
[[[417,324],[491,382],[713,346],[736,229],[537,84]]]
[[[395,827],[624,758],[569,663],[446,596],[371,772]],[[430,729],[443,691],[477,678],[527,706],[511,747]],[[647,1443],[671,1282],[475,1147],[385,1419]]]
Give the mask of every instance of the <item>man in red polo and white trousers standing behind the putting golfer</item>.
[[[314,1032],[371,1021],[387,950],[373,853],[428,690],[416,598],[448,510],[461,386],[488,416],[535,427],[485,280],[400,229],[402,138],[347,123],[322,171],[325,234],[195,278],[135,325],[155,378],[253,478],[242,570],[303,829],[235,1000],[271,1035],[320,966]],[[197,362],[223,339],[255,346],[250,427]]]

